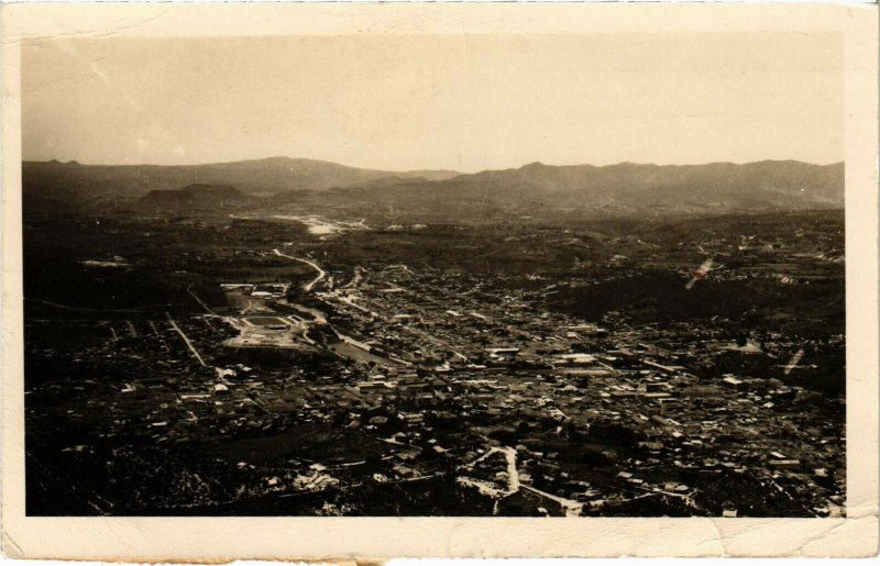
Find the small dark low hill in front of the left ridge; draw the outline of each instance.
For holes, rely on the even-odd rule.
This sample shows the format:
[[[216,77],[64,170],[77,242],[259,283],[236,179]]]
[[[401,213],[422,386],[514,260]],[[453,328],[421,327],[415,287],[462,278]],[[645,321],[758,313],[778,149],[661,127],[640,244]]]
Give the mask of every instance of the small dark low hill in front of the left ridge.
[[[133,208],[142,212],[197,212],[251,208],[260,199],[228,185],[195,184],[180,190],[151,190]]]

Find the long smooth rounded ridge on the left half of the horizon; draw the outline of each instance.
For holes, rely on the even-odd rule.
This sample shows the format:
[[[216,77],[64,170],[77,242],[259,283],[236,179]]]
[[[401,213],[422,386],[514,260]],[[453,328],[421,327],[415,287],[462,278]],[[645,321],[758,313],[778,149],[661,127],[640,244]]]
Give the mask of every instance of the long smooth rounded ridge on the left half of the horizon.
[[[187,185],[231,185],[245,193],[323,190],[383,177],[426,180],[459,175],[447,170],[386,171],[330,162],[270,157],[207,165],[81,165],[76,162],[23,162],[24,192],[63,201],[135,199],[151,190]]]

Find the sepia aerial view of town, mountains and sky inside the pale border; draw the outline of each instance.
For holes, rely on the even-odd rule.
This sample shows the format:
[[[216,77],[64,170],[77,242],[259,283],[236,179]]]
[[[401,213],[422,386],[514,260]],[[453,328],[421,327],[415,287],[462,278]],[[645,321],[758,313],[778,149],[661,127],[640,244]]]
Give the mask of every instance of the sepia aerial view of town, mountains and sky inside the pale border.
[[[18,37],[24,515],[845,520],[849,36],[389,20]]]

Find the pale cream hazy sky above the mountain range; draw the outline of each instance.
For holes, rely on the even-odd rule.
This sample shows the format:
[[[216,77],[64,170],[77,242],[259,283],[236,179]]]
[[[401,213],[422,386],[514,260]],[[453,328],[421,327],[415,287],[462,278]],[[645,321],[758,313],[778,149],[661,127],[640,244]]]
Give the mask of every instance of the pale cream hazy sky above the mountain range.
[[[103,38],[22,53],[25,159],[385,169],[844,157],[807,34]]]

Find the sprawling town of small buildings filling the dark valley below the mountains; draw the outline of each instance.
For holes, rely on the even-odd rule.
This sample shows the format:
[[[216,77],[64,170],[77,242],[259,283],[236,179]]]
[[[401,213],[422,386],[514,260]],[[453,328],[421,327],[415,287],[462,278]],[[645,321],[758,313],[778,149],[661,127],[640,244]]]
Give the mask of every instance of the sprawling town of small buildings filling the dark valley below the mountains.
[[[29,303],[29,512],[843,515],[844,332],[774,310],[804,289],[838,307],[842,223],[820,220],[575,242],[546,270],[461,266],[466,246],[531,257],[529,238],[540,266],[576,226],[172,221],[186,252],[117,244],[79,267],[112,280],[150,256],[167,302]],[[193,244],[211,231],[248,235]],[[460,258],[383,245],[454,249],[450,231]],[[350,259],[370,245],[387,257]]]

